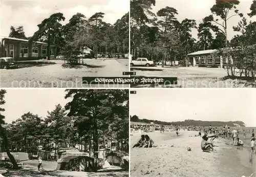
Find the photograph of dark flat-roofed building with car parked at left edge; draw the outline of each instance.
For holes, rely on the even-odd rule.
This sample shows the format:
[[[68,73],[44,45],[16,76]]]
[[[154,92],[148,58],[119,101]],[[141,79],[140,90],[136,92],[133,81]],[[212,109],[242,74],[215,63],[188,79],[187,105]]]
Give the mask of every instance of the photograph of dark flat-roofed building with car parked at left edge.
[[[82,77],[129,71],[128,0],[3,0],[0,8],[0,87],[102,87]]]

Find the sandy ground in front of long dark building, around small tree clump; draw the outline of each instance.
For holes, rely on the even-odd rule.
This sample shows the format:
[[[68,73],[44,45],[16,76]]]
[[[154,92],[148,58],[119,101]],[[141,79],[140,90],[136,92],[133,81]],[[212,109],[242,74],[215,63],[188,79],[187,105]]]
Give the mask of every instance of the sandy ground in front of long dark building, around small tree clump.
[[[42,67],[0,70],[0,87],[128,87],[128,84],[82,84],[82,77],[123,77],[129,71],[127,59],[83,59],[84,63],[95,68],[83,66],[79,69],[62,68],[62,60],[50,60],[56,64]]]

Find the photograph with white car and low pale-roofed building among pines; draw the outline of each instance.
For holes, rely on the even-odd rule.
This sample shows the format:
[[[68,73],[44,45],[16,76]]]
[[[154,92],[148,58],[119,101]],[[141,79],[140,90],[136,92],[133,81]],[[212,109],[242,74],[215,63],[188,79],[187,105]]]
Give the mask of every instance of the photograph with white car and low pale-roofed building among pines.
[[[130,6],[130,70],[177,77],[177,84],[132,87],[256,87],[255,0],[131,0]]]

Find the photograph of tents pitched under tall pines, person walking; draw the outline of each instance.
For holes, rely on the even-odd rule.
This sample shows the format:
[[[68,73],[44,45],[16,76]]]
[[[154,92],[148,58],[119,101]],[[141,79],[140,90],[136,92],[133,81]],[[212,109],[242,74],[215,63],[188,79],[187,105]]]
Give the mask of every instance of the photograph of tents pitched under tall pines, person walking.
[[[0,176],[129,176],[129,90],[0,90]]]

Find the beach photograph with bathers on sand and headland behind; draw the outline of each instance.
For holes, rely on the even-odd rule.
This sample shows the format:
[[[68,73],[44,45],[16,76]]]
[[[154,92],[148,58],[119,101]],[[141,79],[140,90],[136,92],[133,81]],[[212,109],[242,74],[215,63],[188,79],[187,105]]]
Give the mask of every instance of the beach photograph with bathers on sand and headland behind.
[[[256,176],[256,92],[135,89],[130,176]]]

